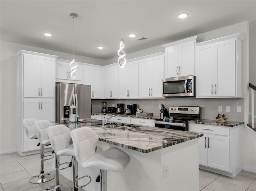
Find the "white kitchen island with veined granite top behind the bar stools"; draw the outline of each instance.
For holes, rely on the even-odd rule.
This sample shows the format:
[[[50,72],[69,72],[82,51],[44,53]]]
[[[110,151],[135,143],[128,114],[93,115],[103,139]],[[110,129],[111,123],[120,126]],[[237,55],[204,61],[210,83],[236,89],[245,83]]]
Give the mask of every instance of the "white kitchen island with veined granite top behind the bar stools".
[[[110,147],[118,147],[126,152],[131,161],[121,173],[108,171],[108,191],[198,191],[198,138],[199,133],[168,130],[148,126],[126,130],[106,128],[98,120],[88,120],[82,124],[64,124],[73,130],[82,126],[92,128],[99,136],[97,152]],[[60,162],[70,161],[70,157],[61,157]],[[83,169],[78,164],[78,175],[90,175],[92,182],[84,187],[87,191],[100,190],[96,183],[99,171]],[[72,180],[72,169],[60,171]],[[83,179],[79,184],[84,184]]]

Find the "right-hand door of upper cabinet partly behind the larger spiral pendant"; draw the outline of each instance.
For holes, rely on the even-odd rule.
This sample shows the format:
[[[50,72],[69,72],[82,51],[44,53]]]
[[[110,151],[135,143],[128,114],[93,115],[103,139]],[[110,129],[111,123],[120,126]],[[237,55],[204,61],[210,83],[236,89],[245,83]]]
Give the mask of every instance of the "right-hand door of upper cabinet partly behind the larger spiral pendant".
[[[122,69],[120,69],[122,70]],[[129,83],[129,98],[138,98],[139,97],[139,62],[135,61],[130,63],[130,73],[129,79],[126,81]]]

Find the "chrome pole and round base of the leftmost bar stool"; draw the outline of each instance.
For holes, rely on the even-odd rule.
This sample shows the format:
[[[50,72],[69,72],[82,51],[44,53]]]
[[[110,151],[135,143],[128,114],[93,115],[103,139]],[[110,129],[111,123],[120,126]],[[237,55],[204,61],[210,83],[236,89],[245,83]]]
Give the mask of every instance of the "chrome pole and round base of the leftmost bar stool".
[[[39,175],[30,178],[31,183],[44,183],[54,179],[54,174],[44,173],[44,145],[40,143],[40,154],[41,154],[41,172]]]

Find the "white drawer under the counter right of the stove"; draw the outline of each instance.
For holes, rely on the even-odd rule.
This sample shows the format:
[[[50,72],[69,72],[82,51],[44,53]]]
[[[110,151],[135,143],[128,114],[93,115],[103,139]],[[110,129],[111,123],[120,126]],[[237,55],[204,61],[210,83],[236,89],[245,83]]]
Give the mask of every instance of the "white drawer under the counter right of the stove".
[[[229,128],[216,125],[188,124],[188,131],[229,136]]]

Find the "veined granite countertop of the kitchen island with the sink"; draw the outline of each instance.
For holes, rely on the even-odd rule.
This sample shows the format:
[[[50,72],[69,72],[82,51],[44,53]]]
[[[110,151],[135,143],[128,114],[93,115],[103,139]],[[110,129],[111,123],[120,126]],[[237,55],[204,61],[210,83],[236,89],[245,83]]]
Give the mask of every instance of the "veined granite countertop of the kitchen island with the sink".
[[[69,123],[68,121],[56,121],[52,124],[64,124],[70,130],[80,127],[90,127],[99,136],[99,140],[116,146],[121,146],[142,153],[149,153],[160,150],[175,144],[199,138],[203,136],[201,133],[170,130],[164,128],[156,128],[149,126],[139,126],[129,128],[127,130],[119,130],[114,128],[105,128],[102,133],[102,126],[99,120],[87,119],[86,123]]]

